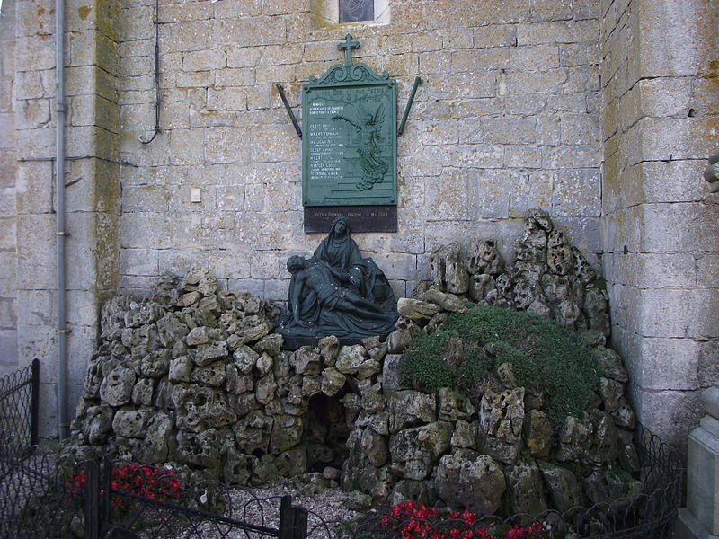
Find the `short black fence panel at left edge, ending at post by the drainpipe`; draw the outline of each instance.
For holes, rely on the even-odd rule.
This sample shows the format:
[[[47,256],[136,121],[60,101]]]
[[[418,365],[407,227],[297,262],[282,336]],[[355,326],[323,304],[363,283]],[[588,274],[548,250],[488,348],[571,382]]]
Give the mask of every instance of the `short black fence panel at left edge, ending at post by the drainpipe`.
[[[38,443],[40,361],[0,378],[0,478]]]

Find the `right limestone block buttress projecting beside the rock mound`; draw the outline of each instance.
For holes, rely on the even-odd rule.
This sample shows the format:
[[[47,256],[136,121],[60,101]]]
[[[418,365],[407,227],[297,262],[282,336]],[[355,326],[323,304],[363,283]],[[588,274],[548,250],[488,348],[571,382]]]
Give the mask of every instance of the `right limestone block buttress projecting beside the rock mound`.
[[[711,0],[601,3],[603,238],[613,345],[635,408],[678,447],[719,378],[719,145]]]

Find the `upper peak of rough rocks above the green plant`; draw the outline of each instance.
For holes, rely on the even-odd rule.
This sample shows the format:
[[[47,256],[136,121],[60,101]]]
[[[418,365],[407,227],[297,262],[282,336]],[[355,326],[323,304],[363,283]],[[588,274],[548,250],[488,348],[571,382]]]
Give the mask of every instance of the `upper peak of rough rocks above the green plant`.
[[[416,321],[434,331],[447,312],[463,313],[467,302],[528,311],[584,332],[590,344],[604,344],[610,332],[608,297],[602,279],[583,254],[555,228],[546,211],[532,209],[507,265],[493,240],[471,242],[465,254],[458,243],[439,247],[430,260],[431,282],[422,282],[414,298],[399,300],[404,317],[392,335],[390,351],[401,352]]]

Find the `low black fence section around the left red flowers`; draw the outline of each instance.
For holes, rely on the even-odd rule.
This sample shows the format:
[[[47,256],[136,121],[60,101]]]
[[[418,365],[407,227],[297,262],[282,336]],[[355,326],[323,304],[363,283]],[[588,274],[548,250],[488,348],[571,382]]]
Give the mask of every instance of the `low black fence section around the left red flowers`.
[[[16,462],[5,479],[2,539],[331,536],[289,496],[260,499],[219,482],[187,482],[164,467],[43,455]]]

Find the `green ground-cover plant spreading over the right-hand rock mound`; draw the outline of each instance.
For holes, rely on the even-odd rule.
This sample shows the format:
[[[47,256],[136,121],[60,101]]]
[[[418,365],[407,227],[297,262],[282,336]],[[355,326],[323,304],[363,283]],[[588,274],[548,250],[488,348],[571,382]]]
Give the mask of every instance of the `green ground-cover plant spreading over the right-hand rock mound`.
[[[464,349],[458,364],[448,358],[453,337]],[[502,363],[511,363],[519,385],[544,394],[546,414],[555,425],[585,411],[599,386],[590,350],[579,335],[536,314],[500,307],[452,314],[441,331],[416,334],[404,352],[400,380],[425,390],[457,386],[471,394]]]

